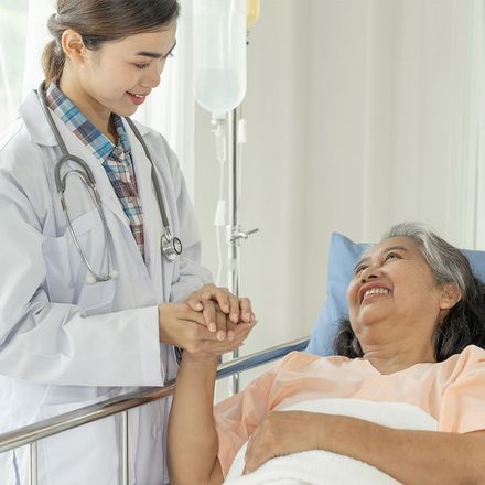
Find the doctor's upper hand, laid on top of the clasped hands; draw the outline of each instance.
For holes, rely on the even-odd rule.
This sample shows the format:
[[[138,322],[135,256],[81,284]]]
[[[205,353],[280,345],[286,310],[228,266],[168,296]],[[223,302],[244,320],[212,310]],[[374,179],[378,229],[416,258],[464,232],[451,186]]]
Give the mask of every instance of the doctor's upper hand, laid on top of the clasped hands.
[[[185,303],[203,313],[207,328],[216,333],[218,340],[233,338],[238,323],[256,322],[248,298],[237,298],[227,288],[213,283],[194,291]]]

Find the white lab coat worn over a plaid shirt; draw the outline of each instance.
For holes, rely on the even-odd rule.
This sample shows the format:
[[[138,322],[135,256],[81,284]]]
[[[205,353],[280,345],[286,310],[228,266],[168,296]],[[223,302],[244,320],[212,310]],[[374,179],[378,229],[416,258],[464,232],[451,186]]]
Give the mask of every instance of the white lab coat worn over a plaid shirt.
[[[101,164],[54,116],[68,151],[95,175],[119,274],[87,284],[54,182],[61,149],[35,93],[21,105],[20,115],[0,139],[0,432],[174,378],[173,347],[159,344],[157,304],[180,301],[211,280],[198,263],[193,207],[165,140],[138,125],[154,160],[172,233],[184,245],[173,263],[160,250],[162,223],[150,162],[126,123],[143,207],[143,262]],[[100,218],[82,182],[67,180],[74,230],[87,260],[104,270]],[[130,484],[168,482],[168,411],[166,401],[130,411]],[[117,484],[117,420],[41,441],[40,484]],[[0,454],[2,485],[24,483],[25,459],[24,450]]]

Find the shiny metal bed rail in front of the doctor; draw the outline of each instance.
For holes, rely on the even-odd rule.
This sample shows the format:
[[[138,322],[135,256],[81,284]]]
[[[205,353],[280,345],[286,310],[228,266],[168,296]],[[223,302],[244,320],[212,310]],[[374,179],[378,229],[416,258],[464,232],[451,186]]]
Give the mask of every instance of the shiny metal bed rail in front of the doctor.
[[[299,338],[284,344],[267,348],[237,359],[220,364],[217,369],[217,380],[234,376],[245,370],[259,367],[272,360],[277,360],[290,352],[306,348],[310,337]],[[166,398],[173,394],[175,380],[164,387],[143,388],[128,392],[96,405],[76,409],[64,414],[56,416],[34,424],[0,434],[0,453],[19,446],[29,445],[29,477],[30,485],[37,484],[37,441],[52,436],[63,431],[68,431],[99,419],[115,414],[121,414],[120,427],[120,483],[128,484],[128,411],[132,408]]]

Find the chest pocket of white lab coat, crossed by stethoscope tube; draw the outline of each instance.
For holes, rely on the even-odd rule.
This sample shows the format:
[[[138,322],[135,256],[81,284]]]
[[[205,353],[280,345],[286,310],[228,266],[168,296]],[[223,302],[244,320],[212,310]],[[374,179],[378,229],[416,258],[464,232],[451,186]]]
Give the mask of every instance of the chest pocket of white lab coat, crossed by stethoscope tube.
[[[104,274],[108,268],[108,245],[105,226],[96,208],[72,222],[72,228],[84,258],[91,268]],[[50,300],[76,304],[88,314],[111,310],[115,298],[112,279],[93,283],[90,272],[76,242],[66,228],[60,237],[44,242],[46,285]]]

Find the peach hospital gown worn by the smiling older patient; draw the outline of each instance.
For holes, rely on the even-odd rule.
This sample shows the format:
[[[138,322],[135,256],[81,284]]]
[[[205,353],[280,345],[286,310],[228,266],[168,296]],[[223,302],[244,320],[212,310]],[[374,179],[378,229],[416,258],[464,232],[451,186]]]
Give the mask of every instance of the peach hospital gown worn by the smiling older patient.
[[[324,398],[409,403],[431,414],[439,431],[484,430],[485,351],[470,345],[444,362],[416,364],[389,375],[362,358],[292,352],[246,390],[215,407],[224,475],[269,411]]]

